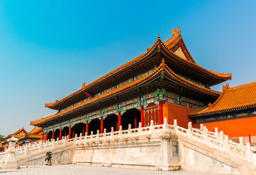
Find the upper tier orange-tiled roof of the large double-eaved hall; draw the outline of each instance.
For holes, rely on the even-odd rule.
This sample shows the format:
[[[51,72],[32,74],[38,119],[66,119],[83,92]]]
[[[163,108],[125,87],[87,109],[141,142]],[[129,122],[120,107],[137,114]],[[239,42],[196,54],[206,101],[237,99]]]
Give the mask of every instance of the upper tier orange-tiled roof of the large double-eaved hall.
[[[135,65],[136,63],[141,62],[143,59],[145,59],[146,57],[152,55],[157,49],[163,49],[166,54],[171,55],[173,57],[173,59],[175,59],[175,61],[184,64],[186,66],[190,66],[193,67],[195,70],[200,70],[202,73],[205,73],[206,75],[210,76],[210,77],[214,77],[216,79],[231,79],[231,73],[219,73],[219,72],[212,72],[212,70],[206,70],[205,68],[203,68],[202,66],[199,66],[196,64],[195,60],[193,59],[193,57],[191,56],[191,54],[189,53],[183,39],[182,36],[180,35],[180,29],[178,27],[178,29],[173,29],[172,30],[173,36],[172,38],[166,40],[166,42],[162,42],[160,37],[158,36],[156,42],[152,45],[152,47],[150,47],[147,52],[141,54],[140,56],[132,59],[131,61],[125,63],[124,65],[116,68],[115,70],[107,73],[106,75],[100,77],[97,80],[94,80],[93,82],[91,82],[90,84],[84,85],[82,86],[81,89],[77,90],[76,92],[66,96],[65,98],[62,98],[61,100],[56,100],[56,102],[52,102],[52,103],[45,103],[45,107],[49,107],[51,109],[58,109],[58,104],[66,102],[66,100],[72,98],[73,96],[78,95],[79,93],[84,93],[87,91],[87,89],[91,88],[92,86],[95,86],[95,84],[99,84],[100,82],[102,82],[103,80],[108,79],[109,77],[112,77],[114,75],[116,75],[116,73],[125,70],[127,68],[130,68],[131,66]],[[185,52],[188,53],[189,58],[188,59],[184,59],[182,57],[179,56],[179,54],[176,54],[174,47],[177,46],[177,44],[179,42],[182,42],[182,44],[185,47]]]

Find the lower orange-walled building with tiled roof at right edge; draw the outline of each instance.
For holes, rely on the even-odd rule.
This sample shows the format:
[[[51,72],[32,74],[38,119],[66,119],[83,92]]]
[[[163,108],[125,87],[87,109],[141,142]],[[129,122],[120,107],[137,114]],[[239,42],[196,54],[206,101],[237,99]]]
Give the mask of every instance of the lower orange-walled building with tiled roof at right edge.
[[[214,103],[200,107],[189,114],[195,125],[204,123],[209,130],[218,127],[229,137],[253,136],[256,143],[256,82],[229,88],[223,86],[220,97]],[[237,138],[238,139],[238,138]]]

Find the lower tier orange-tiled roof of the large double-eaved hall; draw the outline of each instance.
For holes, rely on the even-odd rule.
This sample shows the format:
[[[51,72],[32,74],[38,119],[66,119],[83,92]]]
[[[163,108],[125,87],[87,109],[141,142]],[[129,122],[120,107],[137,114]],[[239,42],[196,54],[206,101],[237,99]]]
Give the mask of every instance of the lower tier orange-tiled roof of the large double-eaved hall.
[[[146,82],[149,82],[150,80],[156,79],[161,74],[165,75],[166,77],[168,77],[172,81],[181,84],[182,86],[186,86],[186,87],[189,87],[189,88],[196,89],[196,91],[201,91],[202,93],[209,94],[209,95],[212,95],[212,96],[219,96],[220,95],[220,92],[218,92],[218,91],[214,91],[212,89],[204,88],[202,86],[199,86],[198,84],[195,84],[193,82],[190,82],[190,81],[180,77],[179,75],[174,73],[164,63],[164,59],[163,59],[161,65],[159,67],[157,67],[156,70],[154,70],[154,72],[146,75],[145,77],[141,77],[140,79],[129,82],[128,84],[125,84],[124,86],[120,86],[119,88],[113,89],[113,90],[111,90],[107,93],[104,93],[102,95],[91,98],[90,100],[88,100],[86,102],[80,103],[79,105],[71,107],[70,109],[58,112],[57,114],[53,114],[52,116],[48,116],[46,118],[41,118],[41,119],[38,119],[36,121],[31,121],[30,125],[38,126],[41,123],[45,123],[46,121],[50,121],[50,120],[58,118],[60,116],[65,116],[65,115],[69,114],[70,112],[73,112],[75,110],[86,107],[87,105],[90,105],[92,103],[99,102],[100,100],[103,100],[105,98],[109,98],[111,96],[115,96],[117,94],[124,93],[125,91],[129,91],[133,88],[141,86],[141,85],[145,84]]]

